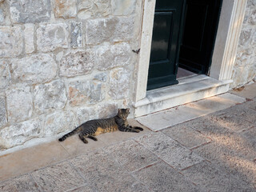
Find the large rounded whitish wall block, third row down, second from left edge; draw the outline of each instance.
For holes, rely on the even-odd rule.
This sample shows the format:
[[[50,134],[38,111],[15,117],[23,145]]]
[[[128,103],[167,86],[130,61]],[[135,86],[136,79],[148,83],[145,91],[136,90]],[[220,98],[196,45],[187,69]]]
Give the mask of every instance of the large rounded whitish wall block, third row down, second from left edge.
[[[56,76],[57,64],[49,54],[36,54],[12,60],[13,76],[30,84],[49,82]]]

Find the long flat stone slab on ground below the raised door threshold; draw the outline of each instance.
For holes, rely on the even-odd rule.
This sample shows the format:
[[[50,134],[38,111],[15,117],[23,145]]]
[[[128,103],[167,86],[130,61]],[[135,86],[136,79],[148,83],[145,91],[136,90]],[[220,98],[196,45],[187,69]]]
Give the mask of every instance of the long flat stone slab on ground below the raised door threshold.
[[[246,98],[226,93],[218,96],[202,99],[198,102],[190,102],[186,105],[177,106],[169,110],[149,114],[136,120],[150,130],[158,131],[178,123],[186,122],[206,114],[224,110],[238,103],[246,102]]]

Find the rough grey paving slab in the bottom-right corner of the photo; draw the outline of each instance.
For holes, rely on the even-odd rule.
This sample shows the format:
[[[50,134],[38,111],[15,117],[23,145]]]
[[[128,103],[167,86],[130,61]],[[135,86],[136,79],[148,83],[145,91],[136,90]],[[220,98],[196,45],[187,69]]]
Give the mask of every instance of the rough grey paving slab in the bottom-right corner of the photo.
[[[201,191],[253,191],[240,178],[227,174],[210,162],[198,163],[182,170],[182,174],[200,186]]]

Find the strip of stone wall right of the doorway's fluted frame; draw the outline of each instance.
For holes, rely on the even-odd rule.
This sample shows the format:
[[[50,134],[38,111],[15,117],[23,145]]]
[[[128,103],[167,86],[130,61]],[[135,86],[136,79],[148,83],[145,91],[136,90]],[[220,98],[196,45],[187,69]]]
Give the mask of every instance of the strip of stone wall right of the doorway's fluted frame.
[[[256,81],[256,0],[248,0],[231,88]]]

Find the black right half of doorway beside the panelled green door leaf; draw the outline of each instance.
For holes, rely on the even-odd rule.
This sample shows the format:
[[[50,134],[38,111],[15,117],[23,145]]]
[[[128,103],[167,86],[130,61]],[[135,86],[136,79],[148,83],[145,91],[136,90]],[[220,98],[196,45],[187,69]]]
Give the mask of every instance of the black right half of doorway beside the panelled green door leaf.
[[[185,26],[179,66],[197,74],[207,74],[222,0],[186,0]]]

